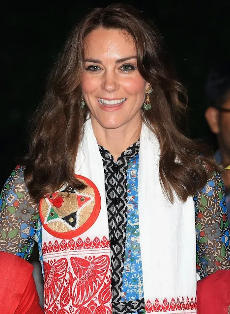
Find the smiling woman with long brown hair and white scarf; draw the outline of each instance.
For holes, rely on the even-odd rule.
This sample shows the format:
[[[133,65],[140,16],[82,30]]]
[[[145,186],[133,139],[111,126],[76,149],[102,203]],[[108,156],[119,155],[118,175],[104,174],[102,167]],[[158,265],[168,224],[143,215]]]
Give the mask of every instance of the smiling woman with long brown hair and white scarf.
[[[196,234],[200,277],[230,267],[222,179],[177,128],[182,98],[134,8],[72,31],[2,197],[1,247],[38,241],[45,313],[196,313]]]

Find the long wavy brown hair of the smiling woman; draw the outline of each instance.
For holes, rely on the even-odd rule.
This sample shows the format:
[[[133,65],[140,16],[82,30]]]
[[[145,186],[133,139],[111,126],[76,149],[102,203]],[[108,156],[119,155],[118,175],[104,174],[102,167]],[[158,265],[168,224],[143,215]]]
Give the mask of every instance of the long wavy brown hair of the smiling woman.
[[[80,107],[84,39],[98,27],[123,30],[133,37],[139,72],[153,88],[152,107],[143,110],[143,121],[160,143],[161,184],[171,202],[173,190],[185,201],[205,185],[217,166],[203,143],[189,139],[178,128],[185,113],[187,95],[166,61],[159,31],[138,10],[122,4],[96,8],[87,14],[72,30],[58,56],[48,77],[44,100],[32,121],[36,127],[32,132],[29,154],[24,160],[29,193],[39,201],[63,183],[84,188],[74,175],[88,113],[87,108]]]

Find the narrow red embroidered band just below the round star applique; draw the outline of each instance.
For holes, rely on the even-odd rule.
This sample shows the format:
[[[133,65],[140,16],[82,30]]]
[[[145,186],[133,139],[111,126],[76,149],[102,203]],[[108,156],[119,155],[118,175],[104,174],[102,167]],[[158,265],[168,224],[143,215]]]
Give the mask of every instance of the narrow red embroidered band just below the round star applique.
[[[100,240],[97,236],[90,240],[89,237],[86,240],[82,240],[80,237],[77,240],[70,239],[70,240],[62,240],[58,242],[57,240],[52,244],[49,241],[48,244],[44,242],[42,246],[43,254],[52,253],[52,252],[61,252],[67,250],[84,250],[84,249],[100,249],[100,248],[107,248],[110,247],[110,242],[106,236]]]

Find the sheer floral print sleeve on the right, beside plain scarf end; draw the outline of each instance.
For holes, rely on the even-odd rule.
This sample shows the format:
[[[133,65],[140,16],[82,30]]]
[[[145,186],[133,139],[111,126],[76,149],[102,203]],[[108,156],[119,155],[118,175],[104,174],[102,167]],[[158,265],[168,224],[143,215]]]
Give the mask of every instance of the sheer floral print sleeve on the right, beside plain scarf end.
[[[214,172],[194,197],[197,235],[197,272],[201,278],[219,269],[230,269],[230,234],[225,188]]]

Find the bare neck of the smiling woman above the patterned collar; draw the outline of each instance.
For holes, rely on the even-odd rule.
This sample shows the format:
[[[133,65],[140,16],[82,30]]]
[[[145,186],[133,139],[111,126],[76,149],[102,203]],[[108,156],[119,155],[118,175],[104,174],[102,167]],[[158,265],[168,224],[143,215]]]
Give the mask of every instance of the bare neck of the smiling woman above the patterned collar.
[[[139,140],[141,135],[142,121],[135,125],[126,124],[116,129],[103,128],[95,119],[91,119],[91,122],[98,145],[109,151],[115,162],[121,153]]]

